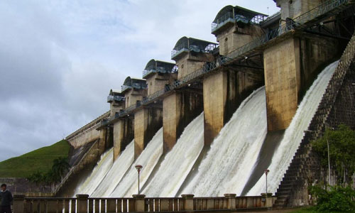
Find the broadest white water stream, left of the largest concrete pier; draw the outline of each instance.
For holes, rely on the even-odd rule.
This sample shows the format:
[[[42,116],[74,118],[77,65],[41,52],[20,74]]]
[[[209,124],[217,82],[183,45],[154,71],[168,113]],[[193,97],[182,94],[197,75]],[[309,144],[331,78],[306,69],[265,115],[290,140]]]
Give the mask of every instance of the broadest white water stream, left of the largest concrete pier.
[[[265,88],[251,94],[223,127],[182,194],[223,196],[243,190],[266,137]]]

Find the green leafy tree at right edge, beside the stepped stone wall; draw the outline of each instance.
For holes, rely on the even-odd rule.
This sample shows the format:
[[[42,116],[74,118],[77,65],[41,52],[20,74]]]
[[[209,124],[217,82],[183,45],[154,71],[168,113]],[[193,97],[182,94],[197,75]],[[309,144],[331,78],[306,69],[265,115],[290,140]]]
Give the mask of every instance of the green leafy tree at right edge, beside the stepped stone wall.
[[[352,182],[351,176],[355,172],[355,131],[342,124],[336,130],[326,129],[322,138],[312,142],[324,170],[328,168],[327,143],[330,164],[337,174],[337,182],[343,185]]]

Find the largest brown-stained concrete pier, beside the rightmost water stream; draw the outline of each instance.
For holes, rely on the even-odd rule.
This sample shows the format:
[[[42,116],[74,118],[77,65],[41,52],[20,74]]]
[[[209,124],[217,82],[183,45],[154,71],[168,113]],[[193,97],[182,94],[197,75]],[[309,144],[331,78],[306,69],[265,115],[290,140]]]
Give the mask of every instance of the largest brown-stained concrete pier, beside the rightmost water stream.
[[[336,40],[307,34],[264,51],[268,131],[288,128],[302,95],[338,55]]]

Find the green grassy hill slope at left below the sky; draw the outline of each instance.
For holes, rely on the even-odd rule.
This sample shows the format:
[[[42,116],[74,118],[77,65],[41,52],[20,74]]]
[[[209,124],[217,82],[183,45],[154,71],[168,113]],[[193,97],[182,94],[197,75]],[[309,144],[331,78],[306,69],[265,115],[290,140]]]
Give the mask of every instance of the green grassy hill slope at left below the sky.
[[[47,172],[52,168],[53,160],[58,157],[67,158],[69,150],[69,143],[62,140],[52,146],[1,161],[0,178],[27,178],[36,171]]]

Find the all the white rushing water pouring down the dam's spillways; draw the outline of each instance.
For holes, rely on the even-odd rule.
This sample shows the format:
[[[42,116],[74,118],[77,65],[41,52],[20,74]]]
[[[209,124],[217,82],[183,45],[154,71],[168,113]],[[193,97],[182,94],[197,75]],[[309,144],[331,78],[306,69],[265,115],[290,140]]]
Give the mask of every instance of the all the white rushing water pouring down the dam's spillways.
[[[270,152],[273,157],[268,166],[271,170],[268,174],[269,192],[275,192],[283,178],[336,66],[337,62],[329,65],[315,80],[302,99],[289,128],[283,137],[280,135],[280,145]],[[251,188],[247,195],[260,195],[264,192],[265,176],[258,179],[258,176],[251,175],[260,160],[258,157],[266,140],[265,88],[256,90],[241,103],[214,139],[198,171],[187,180],[203,148],[203,126],[201,114],[185,128],[164,159],[163,128],[155,133],[135,162],[133,142],[114,164],[112,150],[104,153],[92,174],[76,192],[94,197],[131,197],[138,192],[137,172],[134,168],[137,164],[143,165],[141,188],[148,197],[175,197],[177,193],[194,194],[197,197],[222,196],[224,193],[241,195],[251,178],[254,178],[253,182],[258,181],[246,187],[245,192]]]

